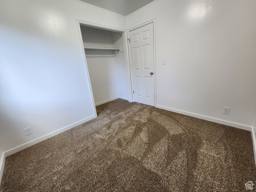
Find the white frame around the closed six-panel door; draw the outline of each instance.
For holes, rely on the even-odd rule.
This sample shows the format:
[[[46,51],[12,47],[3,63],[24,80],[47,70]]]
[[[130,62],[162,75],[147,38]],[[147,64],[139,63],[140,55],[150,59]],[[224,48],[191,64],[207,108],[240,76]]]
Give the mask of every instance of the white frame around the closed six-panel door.
[[[134,30],[134,29],[137,29],[137,28],[140,28],[140,27],[143,27],[147,24],[150,24],[150,23],[153,23],[153,48],[154,48],[154,96],[155,96],[155,107],[156,107],[156,18],[152,19],[152,20],[149,20],[145,23],[142,23],[140,25],[137,25],[133,28],[130,28],[127,30],[127,37],[128,39],[130,39],[130,36],[129,36],[129,32]],[[127,41],[127,44],[128,44],[128,49],[129,49],[129,61],[131,61],[131,49],[130,49],[130,43],[128,43]],[[130,63],[131,65],[131,63]],[[133,80],[132,80],[132,68],[130,67],[130,74],[131,74],[131,86],[132,86],[132,91],[134,90],[134,87],[133,87]],[[132,101],[134,102],[134,93],[132,92]]]

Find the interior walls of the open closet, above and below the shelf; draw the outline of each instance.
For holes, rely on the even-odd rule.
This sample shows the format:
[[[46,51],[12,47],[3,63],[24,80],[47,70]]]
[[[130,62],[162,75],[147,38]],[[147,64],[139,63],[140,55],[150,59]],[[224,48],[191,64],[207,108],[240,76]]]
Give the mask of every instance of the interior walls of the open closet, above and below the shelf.
[[[95,105],[121,98],[128,100],[122,33],[80,26],[84,48],[119,49],[86,51]]]

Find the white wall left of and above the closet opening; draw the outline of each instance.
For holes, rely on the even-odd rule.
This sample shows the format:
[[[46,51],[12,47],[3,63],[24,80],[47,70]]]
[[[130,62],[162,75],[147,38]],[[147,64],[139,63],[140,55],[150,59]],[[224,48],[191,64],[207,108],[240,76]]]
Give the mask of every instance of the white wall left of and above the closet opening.
[[[92,117],[75,19],[125,29],[125,16],[79,0],[2,0],[0,18],[3,152]]]

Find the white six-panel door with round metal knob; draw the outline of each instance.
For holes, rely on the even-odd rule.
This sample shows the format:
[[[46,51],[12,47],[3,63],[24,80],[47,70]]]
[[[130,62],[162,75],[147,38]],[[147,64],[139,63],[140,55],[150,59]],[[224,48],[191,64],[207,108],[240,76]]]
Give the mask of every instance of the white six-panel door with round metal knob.
[[[129,38],[134,100],[155,106],[153,23],[130,31]]]

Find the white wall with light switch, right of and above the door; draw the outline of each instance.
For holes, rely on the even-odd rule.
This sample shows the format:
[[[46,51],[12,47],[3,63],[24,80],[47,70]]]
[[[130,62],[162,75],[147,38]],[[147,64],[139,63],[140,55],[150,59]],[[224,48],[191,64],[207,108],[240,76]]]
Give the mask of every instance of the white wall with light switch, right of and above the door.
[[[255,1],[155,0],[127,15],[127,29],[156,18],[157,105],[251,127],[255,9]]]

